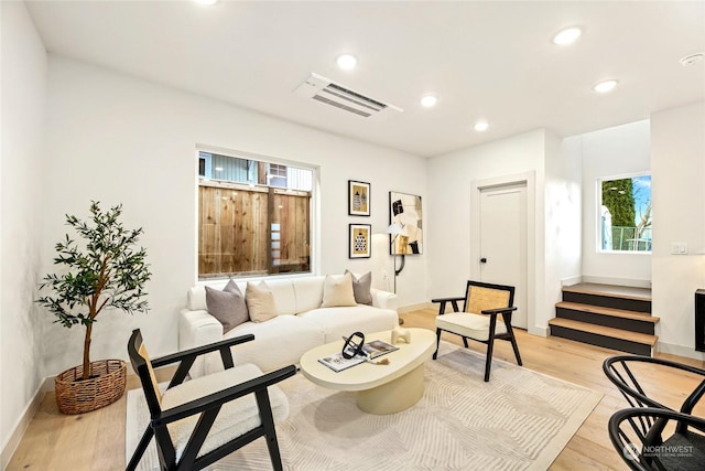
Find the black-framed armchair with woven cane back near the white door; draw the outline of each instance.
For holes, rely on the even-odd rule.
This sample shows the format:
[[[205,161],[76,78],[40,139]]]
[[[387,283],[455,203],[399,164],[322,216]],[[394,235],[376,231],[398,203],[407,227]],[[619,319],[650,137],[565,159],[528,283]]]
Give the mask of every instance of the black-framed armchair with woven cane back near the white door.
[[[463,301],[463,310],[458,309],[458,301]],[[433,360],[438,355],[441,345],[441,332],[451,332],[463,338],[467,349],[467,340],[471,339],[487,345],[487,358],[485,361],[485,381],[489,381],[492,365],[492,347],[495,340],[511,342],[517,363],[521,366],[521,355],[511,327],[511,314],[517,310],[514,304],[514,287],[505,285],[490,285],[480,281],[468,281],[465,297],[463,298],[436,298],[432,302],[438,302],[438,315],[436,317],[436,351]],[[446,313],[447,303],[453,306],[453,312]],[[501,314],[502,322],[497,322]]]

